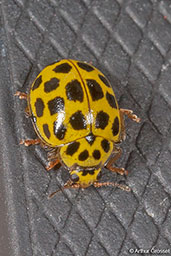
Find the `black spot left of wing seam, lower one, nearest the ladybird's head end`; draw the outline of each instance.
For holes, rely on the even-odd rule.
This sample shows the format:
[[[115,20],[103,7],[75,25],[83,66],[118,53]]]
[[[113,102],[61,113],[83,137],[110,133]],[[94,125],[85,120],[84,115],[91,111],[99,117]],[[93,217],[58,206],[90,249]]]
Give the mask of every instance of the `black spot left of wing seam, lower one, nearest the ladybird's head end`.
[[[82,130],[86,129],[86,119],[81,111],[75,112],[70,117],[70,124],[72,125],[74,130]]]

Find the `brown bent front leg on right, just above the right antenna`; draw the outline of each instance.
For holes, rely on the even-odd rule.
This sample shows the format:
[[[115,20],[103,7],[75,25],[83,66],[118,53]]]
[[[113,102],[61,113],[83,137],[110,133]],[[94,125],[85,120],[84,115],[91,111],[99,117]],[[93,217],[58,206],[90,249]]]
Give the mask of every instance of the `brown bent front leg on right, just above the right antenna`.
[[[118,168],[118,167],[115,167],[115,166],[112,166],[113,163],[116,162],[116,160],[118,160],[118,158],[121,156],[121,153],[122,153],[122,150],[120,148],[115,148],[115,150],[117,151],[116,152],[116,155],[114,155],[110,160],[109,162],[107,163],[107,165],[105,166],[105,168],[107,168],[109,171],[111,172],[117,172],[119,173],[120,175],[128,175],[128,171],[125,170],[124,168]]]

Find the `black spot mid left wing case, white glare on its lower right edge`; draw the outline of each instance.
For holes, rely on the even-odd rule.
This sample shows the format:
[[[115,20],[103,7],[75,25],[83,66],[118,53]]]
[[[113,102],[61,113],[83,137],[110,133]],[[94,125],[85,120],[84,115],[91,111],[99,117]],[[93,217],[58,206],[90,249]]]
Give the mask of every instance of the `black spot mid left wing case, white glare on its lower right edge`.
[[[56,97],[53,100],[48,101],[48,108],[51,115],[59,113],[64,110],[64,99],[61,97]]]

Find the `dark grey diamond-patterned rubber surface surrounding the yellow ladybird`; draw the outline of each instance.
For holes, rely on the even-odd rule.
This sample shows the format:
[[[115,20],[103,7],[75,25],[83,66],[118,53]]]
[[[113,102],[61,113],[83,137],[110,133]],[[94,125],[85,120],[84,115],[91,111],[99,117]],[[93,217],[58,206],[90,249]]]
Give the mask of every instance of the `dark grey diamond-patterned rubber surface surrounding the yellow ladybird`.
[[[0,1],[0,255],[171,255],[171,1]],[[14,97],[46,65],[93,63],[110,80],[126,118],[127,139],[103,181],[129,185],[58,192],[64,168],[45,170],[40,146]],[[156,250],[156,251],[155,251]]]

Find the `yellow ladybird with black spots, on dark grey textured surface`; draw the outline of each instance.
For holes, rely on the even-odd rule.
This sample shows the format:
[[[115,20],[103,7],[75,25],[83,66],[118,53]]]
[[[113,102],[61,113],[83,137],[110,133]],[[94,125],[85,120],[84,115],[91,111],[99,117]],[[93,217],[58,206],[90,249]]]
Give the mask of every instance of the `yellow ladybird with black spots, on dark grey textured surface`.
[[[124,168],[113,166],[121,155],[118,143],[125,139],[124,115],[140,119],[132,110],[119,109],[110,82],[97,68],[64,59],[45,67],[28,94],[16,95],[27,100],[27,114],[38,136],[20,143],[48,149],[46,169],[62,165],[70,173],[63,188],[113,185],[129,190],[99,179],[103,167],[127,175]]]

